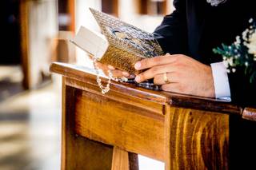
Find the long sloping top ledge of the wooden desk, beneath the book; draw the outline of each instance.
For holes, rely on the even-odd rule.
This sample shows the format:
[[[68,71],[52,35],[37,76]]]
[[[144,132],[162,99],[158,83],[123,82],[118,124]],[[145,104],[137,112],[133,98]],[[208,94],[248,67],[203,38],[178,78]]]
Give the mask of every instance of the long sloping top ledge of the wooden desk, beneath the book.
[[[98,83],[96,82],[96,73],[94,69],[86,68],[81,65],[54,62],[50,65],[50,71],[61,74],[63,77],[68,77],[74,81],[81,82],[80,84],[76,83],[76,88],[78,89],[86,88],[86,84],[93,86],[98,93],[101,93],[98,88]],[[102,77],[102,82],[106,83],[106,78]],[[178,93],[154,91],[115,81],[112,81],[110,84],[110,92],[104,95],[106,95],[106,97],[110,97],[111,93],[118,93],[119,95],[125,95],[129,98],[137,97],[144,101],[156,102],[162,105],[173,105],[175,107],[200,109],[218,113],[242,114],[241,107],[232,105],[227,101],[205,97],[194,97]]]

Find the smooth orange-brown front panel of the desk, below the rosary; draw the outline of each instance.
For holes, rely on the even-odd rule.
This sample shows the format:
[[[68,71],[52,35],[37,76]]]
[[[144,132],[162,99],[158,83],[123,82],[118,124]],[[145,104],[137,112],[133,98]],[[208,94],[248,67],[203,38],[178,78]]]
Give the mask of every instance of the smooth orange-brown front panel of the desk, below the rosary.
[[[86,91],[77,93],[75,100],[79,135],[164,160],[163,115]]]

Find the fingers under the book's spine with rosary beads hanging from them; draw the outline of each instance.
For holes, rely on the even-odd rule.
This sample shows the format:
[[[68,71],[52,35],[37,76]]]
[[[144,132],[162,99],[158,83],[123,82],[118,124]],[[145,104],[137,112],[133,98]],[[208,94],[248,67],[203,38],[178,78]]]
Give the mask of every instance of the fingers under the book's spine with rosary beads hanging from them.
[[[102,69],[103,73],[106,76],[109,75],[108,70],[110,69],[114,77],[118,77],[118,78],[120,78],[120,77],[133,78],[133,76],[130,75],[130,73],[127,73],[126,71],[121,71],[119,69],[115,69],[112,65],[103,65],[102,63],[97,62],[96,66],[98,67],[98,69]]]

